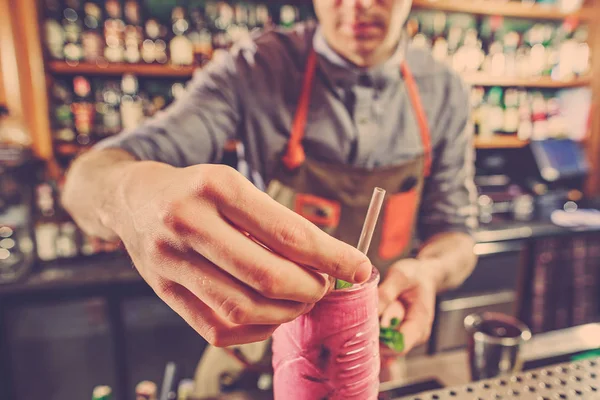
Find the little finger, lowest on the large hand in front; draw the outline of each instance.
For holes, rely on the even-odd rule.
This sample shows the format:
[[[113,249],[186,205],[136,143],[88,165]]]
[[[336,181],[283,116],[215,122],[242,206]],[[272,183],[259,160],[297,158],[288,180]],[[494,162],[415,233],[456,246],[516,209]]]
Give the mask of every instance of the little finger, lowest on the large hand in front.
[[[153,286],[154,287],[154,286]],[[192,292],[176,283],[154,287],[158,296],[213,346],[259,342],[269,338],[277,325],[235,325],[223,320]]]

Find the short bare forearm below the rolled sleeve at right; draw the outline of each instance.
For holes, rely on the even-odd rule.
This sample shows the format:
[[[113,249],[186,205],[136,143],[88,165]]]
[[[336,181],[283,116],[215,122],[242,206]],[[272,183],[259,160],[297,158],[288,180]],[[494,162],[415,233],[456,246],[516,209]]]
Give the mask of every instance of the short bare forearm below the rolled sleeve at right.
[[[475,241],[466,233],[444,232],[433,236],[419,251],[417,259],[424,261],[438,292],[453,289],[469,277],[477,256],[473,252]]]

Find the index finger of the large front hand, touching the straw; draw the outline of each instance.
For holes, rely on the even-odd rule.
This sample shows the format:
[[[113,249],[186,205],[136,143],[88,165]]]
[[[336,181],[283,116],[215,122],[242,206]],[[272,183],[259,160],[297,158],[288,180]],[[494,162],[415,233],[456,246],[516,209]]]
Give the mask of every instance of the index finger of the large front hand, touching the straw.
[[[371,276],[368,258],[295,212],[256,190],[240,184],[234,199],[217,204],[233,224],[250,233],[283,257],[348,282],[362,283]]]

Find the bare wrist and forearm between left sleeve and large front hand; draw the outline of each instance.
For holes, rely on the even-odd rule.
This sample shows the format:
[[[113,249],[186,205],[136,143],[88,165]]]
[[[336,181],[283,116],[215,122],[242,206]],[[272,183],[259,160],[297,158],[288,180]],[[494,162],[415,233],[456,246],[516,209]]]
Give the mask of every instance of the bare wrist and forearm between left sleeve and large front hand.
[[[88,234],[116,239],[107,221],[118,208],[119,185],[135,158],[124,150],[91,151],[75,160],[65,183],[62,203],[77,224]]]

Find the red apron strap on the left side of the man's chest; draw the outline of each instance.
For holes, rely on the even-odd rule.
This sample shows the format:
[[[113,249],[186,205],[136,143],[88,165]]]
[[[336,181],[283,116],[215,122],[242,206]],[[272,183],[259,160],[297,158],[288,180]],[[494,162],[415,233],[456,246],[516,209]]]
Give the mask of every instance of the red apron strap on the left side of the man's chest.
[[[308,60],[306,61],[306,70],[304,71],[304,81],[302,82],[302,92],[296,107],[294,122],[290,140],[288,141],[287,151],[282,158],[283,163],[289,169],[296,169],[304,162],[306,154],[302,147],[302,139],[304,138],[304,130],[306,128],[306,120],[308,118],[308,109],[310,105],[310,94],[312,92],[312,83],[315,77],[315,69],[317,67],[317,53],[314,50],[310,51]]]

